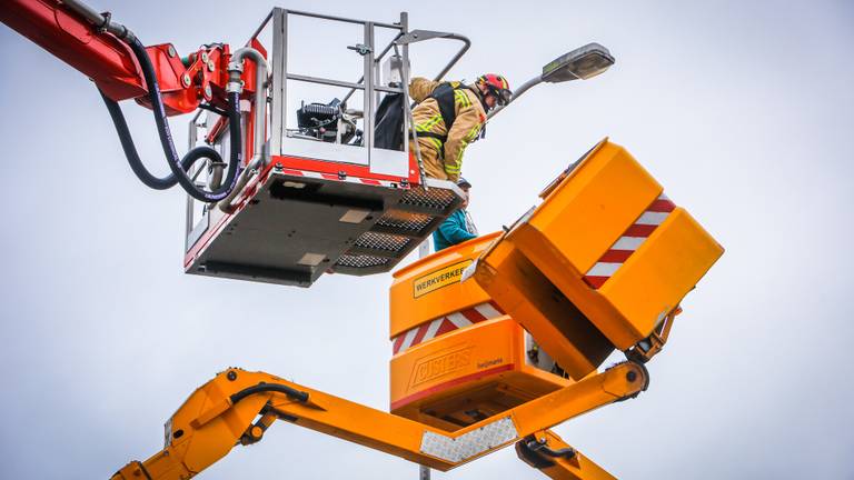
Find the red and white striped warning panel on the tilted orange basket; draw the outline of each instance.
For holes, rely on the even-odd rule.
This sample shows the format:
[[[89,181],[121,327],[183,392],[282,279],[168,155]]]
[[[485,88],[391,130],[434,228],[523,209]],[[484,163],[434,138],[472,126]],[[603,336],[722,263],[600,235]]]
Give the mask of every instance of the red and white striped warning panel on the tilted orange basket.
[[[598,290],[605,282],[623,267],[623,263],[632,257],[651,234],[664,222],[676,206],[664,193],[646,208],[640,217],[610,246],[593,268],[584,276],[584,281],[594,290]]]

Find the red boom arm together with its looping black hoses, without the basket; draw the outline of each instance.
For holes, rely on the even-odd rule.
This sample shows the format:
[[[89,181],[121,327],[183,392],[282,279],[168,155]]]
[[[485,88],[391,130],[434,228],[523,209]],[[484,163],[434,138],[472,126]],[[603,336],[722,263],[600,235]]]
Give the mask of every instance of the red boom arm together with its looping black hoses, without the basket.
[[[10,0],[0,8],[0,21],[95,82],[131,169],[148,187],[163,190],[180,183],[187,193],[205,202],[220,201],[235,190],[244,167],[239,102],[256,93],[257,77],[266,74],[264,53],[251,48],[260,46],[231,52],[225,43],[211,43],[181,58],[171,43],[143,47],[132,31],[112,21],[110,13],[99,13],[79,0]],[[153,110],[170,176],[153,177],[139,159],[118,106],[118,101],[127,99]],[[264,113],[265,102],[256,103],[256,112]],[[199,108],[222,116],[232,139],[228,176],[212,190],[196,186],[188,171],[202,159],[224,166],[219,152],[202,146],[179,158],[167,121],[168,116]],[[250,123],[247,131],[251,129]],[[247,153],[254,154],[255,150],[259,150],[257,144]]]

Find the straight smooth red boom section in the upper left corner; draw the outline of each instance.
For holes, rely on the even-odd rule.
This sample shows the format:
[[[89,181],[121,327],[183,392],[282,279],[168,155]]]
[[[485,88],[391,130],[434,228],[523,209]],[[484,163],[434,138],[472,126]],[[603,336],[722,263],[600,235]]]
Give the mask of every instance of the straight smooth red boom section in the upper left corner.
[[[95,80],[113,100],[147,93],[130,48],[54,0],[4,0],[0,21]]]

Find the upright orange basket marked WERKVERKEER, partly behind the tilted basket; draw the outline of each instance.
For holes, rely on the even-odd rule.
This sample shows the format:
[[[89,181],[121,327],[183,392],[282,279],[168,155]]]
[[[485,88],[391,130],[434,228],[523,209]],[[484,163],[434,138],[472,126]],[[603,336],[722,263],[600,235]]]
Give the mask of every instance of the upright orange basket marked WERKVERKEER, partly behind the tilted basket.
[[[498,233],[441,250],[395,272],[391,412],[449,431],[572,383],[537,367],[519,323],[466,267]]]

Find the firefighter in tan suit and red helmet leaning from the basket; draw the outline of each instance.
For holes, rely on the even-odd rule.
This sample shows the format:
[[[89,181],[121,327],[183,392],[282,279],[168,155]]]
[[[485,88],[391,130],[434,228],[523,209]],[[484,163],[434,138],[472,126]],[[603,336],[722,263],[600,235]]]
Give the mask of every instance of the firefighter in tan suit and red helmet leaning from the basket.
[[[427,177],[457,181],[463,152],[480,134],[486,113],[507,104],[512,94],[507,80],[495,73],[480,76],[471,86],[413,79],[409,96],[418,102],[413,120]],[[409,151],[415,154],[411,134]]]

